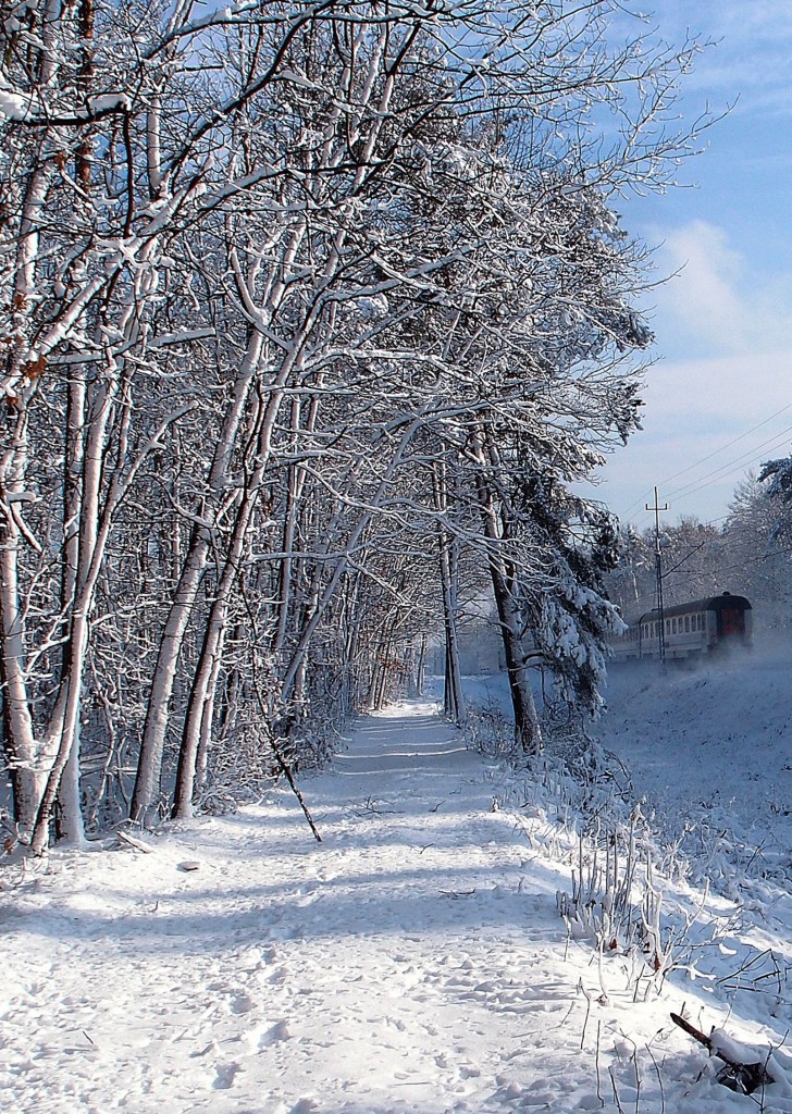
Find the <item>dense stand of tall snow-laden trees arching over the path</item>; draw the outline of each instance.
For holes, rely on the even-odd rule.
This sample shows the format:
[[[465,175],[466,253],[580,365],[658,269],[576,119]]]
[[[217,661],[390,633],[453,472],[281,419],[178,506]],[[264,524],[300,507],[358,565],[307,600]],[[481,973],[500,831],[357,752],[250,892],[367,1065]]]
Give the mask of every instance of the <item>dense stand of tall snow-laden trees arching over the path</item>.
[[[79,840],[188,814],[213,755],[283,769],[334,694],[384,694],[371,663],[462,550],[524,701],[530,632],[593,702],[607,528],[569,485],[634,428],[648,339],[613,204],[688,149],[692,51],[622,43],[620,14],[4,18],[0,680],[36,850],[56,803]]]

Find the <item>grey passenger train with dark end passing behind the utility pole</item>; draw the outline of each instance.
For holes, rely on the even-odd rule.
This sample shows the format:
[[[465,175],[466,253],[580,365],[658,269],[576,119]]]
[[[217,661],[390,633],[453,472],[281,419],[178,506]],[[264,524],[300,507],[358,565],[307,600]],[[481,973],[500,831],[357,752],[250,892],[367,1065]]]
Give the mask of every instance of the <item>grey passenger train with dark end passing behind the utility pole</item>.
[[[751,604],[745,596],[724,592],[663,608],[666,659],[693,658],[724,646],[750,646],[753,629]],[[629,662],[659,658],[659,614],[655,607],[609,639],[612,659]]]

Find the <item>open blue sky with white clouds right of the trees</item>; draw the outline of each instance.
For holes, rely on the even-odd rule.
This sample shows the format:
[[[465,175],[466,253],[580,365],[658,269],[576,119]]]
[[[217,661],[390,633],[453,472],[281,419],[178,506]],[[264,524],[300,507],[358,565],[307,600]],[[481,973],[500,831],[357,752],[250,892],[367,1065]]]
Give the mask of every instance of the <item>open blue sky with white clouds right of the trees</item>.
[[[698,56],[679,111],[731,107],[679,170],[683,188],[625,201],[625,228],[675,274],[647,301],[657,342],[644,430],[608,462],[596,497],[623,521],[722,519],[734,487],[792,455],[792,3],[654,0],[669,41]]]

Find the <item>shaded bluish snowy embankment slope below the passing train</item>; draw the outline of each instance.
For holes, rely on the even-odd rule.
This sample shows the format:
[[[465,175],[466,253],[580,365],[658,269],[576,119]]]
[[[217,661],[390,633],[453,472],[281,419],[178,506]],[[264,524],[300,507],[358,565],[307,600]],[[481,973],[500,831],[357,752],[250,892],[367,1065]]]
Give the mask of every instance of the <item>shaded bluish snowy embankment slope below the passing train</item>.
[[[473,707],[510,715],[502,674],[468,677]],[[668,838],[725,832],[792,881],[792,644],[696,668],[613,665],[594,729],[617,782]],[[757,850],[759,849],[759,850]]]

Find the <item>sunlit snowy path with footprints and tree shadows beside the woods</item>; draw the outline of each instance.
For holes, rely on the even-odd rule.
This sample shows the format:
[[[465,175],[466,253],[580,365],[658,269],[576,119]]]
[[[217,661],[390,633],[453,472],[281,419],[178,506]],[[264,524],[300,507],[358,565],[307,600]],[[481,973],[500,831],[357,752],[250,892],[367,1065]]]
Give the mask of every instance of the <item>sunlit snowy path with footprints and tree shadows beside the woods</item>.
[[[410,702],[303,779],[321,843],[277,789],[149,834],[149,854],[56,852],[0,907],[4,956],[28,957],[0,1010],[4,1110],[599,1107],[564,880],[531,862],[526,891],[492,776]]]

